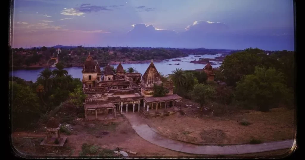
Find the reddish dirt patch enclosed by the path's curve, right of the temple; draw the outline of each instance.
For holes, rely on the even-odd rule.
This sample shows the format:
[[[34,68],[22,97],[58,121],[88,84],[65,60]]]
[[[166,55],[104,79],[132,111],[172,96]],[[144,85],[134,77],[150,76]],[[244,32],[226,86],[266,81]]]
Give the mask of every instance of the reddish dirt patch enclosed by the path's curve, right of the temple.
[[[155,117],[148,121],[149,126],[170,138],[199,144],[249,143],[251,139],[263,142],[293,139],[293,110],[244,110],[217,117],[212,113],[202,115],[196,103],[190,101],[187,104],[191,106],[182,106],[185,115],[176,113]],[[240,124],[241,121],[251,124],[244,126]]]

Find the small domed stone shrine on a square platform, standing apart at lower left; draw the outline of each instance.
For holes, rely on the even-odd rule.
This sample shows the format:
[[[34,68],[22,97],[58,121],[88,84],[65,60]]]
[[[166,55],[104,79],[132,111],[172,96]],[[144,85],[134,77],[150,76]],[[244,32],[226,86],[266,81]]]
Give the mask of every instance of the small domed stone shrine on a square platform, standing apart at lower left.
[[[64,143],[67,140],[67,137],[60,137],[60,126],[61,124],[59,123],[59,121],[56,120],[54,117],[51,117],[45,127],[47,136],[40,143],[40,145],[63,147]],[[53,137],[52,134],[54,133],[55,136]]]

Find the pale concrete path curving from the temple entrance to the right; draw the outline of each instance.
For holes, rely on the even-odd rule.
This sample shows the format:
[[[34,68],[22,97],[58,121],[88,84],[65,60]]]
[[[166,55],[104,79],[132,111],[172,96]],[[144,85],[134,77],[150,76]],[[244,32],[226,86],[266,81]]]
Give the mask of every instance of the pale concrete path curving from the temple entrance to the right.
[[[191,154],[206,154],[206,155],[234,155],[234,154],[247,154],[258,153],[266,151],[274,151],[280,149],[289,149],[293,145],[293,140],[274,141],[262,144],[240,144],[229,146],[216,146],[216,145],[195,145],[184,143],[181,141],[169,139],[155,132],[147,124],[141,123],[140,113],[124,113],[125,117],[131,124],[132,128],[143,139],[174,151],[180,151]]]

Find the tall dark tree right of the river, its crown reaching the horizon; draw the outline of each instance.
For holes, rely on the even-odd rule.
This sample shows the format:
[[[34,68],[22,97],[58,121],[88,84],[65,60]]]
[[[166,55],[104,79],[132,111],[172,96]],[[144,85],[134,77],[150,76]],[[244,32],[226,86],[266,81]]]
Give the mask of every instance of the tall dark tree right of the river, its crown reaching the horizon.
[[[226,56],[221,64],[225,82],[229,86],[235,86],[242,76],[253,74],[255,66],[259,65],[261,59],[257,54],[239,52]]]

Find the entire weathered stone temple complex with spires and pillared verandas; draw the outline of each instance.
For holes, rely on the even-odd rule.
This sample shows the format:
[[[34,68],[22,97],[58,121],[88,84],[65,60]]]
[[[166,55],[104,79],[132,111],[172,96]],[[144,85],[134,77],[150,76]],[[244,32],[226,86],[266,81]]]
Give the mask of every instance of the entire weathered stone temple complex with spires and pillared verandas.
[[[141,112],[146,117],[169,115],[180,110],[182,97],[173,94],[171,80],[163,80],[151,61],[144,75],[125,73],[122,64],[114,71],[108,64],[103,71],[90,53],[83,65],[83,91],[86,120],[117,118],[117,113]],[[154,97],[154,85],[163,85],[169,92]]]

